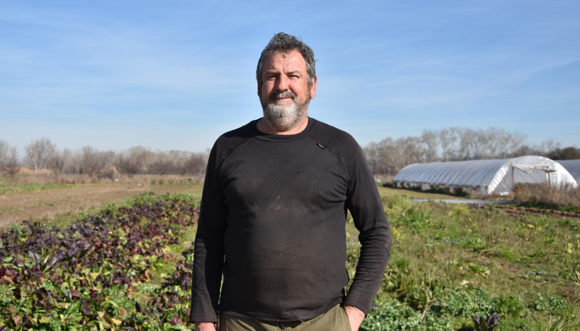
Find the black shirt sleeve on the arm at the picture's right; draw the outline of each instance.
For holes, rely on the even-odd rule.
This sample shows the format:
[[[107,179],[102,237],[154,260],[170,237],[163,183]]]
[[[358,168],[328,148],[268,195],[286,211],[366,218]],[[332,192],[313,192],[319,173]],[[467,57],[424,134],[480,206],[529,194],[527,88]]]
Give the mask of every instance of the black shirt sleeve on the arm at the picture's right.
[[[360,231],[360,257],[353,283],[343,303],[368,315],[379,290],[391,251],[391,231],[375,178],[362,149],[355,142],[345,160],[350,176],[346,206]]]

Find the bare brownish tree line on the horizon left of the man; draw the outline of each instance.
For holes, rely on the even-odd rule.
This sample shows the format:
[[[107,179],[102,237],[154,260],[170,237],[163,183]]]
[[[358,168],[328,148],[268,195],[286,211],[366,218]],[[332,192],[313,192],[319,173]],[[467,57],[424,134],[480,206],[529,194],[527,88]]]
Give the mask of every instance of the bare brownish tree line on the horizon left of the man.
[[[53,174],[86,174],[114,169],[129,177],[135,174],[200,175],[205,172],[209,152],[195,153],[184,150],[152,151],[135,146],[121,152],[100,151],[91,146],[80,150],[59,150],[49,138],[35,139],[24,147],[25,155],[19,158],[17,149],[0,140],[0,171],[17,174],[22,167],[35,172],[49,169]]]

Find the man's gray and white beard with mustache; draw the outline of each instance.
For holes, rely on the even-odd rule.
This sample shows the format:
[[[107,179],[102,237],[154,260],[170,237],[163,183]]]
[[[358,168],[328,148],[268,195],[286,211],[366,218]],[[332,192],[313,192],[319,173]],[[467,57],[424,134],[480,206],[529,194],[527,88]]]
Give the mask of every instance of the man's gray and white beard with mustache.
[[[292,104],[285,105],[283,101],[278,101],[276,98],[292,97]],[[272,93],[268,100],[262,101],[262,109],[264,117],[271,127],[278,131],[287,131],[296,126],[296,123],[304,117],[308,111],[308,104],[310,98],[306,99],[303,104],[296,102],[296,94],[292,91],[284,91],[281,93]]]

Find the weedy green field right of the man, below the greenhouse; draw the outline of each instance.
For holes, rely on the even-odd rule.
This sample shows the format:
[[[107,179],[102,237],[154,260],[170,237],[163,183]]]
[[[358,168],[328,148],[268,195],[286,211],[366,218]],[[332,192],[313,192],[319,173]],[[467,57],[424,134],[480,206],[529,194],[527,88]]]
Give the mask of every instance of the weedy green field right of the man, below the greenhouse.
[[[414,192],[413,192],[414,193]],[[580,330],[580,215],[383,197],[393,249],[361,330]],[[354,275],[357,230],[347,222]]]

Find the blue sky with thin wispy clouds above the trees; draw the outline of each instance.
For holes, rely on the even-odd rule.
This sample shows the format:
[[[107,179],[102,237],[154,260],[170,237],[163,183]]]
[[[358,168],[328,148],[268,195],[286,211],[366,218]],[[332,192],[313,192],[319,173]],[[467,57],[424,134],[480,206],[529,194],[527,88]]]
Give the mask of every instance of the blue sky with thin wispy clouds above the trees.
[[[0,139],[204,150],[262,116],[280,31],[318,59],[309,115],[361,145],[449,126],[580,145],[578,1],[0,0]]]

